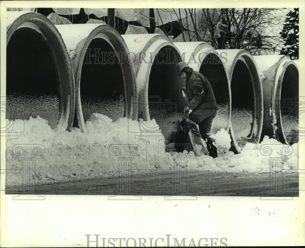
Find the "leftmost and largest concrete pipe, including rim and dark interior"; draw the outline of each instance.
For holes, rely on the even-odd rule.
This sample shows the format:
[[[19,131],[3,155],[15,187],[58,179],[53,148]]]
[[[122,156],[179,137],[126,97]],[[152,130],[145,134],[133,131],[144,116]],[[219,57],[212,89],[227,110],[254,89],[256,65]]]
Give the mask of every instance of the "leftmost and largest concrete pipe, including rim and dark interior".
[[[71,130],[75,90],[72,65],[55,26],[34,12],[7,12],[6,102],[21,104],[9,120],[46,119]],[[16,112],[17,111],[17,112]]]

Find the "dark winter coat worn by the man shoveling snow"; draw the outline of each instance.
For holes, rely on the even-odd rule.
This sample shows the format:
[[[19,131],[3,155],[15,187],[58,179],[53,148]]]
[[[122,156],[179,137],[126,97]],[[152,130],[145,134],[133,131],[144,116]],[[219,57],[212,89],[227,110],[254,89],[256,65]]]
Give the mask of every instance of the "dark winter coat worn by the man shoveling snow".
[[[191,70],[185,81],[185,91],[188,107],[193,110],[190,118],[197,124],[205,119],[204,109],[217,109],[212,86],[201,73]]]

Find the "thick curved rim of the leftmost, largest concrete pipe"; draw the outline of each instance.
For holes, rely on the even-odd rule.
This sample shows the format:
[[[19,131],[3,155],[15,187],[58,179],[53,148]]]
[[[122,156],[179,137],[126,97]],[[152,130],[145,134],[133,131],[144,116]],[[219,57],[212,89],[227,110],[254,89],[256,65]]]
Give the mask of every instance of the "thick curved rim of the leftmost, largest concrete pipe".
[[[7,12],[9,14],[9,12]],[[13,13],[13,12],[12,12]],[[58,128],[64,128],[67,131],[72,130],[74,119],[75,105],[75,87],[72,64],[69,59],[66,45],[53,23],[45,16],[36,12],[24,12],[13,23],[7,26],[6,30],[6,46],[13,33],[24,27],[27,23],[29,28],[39,32],[48,41],[50,54],[54,61],[56,77],[59,84],[59,118]],[[21,27],[20,27],[21,26]],[[58,52],[58,51],[61,52]],[[64,83],[64,85],[62,85]]]

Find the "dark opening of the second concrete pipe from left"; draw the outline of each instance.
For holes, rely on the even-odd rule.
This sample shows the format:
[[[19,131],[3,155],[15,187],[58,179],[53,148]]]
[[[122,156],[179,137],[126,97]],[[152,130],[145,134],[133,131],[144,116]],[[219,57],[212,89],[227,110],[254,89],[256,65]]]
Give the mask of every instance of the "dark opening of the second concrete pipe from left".
[[[96,48],[102,48],[106,54],[114,52],[106,40],[99,38],[92,40],[88,46],[80,80],[84,121],[86,122],[92,113],[104,114],[116,121],[119,117],[124,117],[125,109],[122,68],[117,57],[111,64],[94,63],[95,58],[92,57],[87,60],[88,55]]]

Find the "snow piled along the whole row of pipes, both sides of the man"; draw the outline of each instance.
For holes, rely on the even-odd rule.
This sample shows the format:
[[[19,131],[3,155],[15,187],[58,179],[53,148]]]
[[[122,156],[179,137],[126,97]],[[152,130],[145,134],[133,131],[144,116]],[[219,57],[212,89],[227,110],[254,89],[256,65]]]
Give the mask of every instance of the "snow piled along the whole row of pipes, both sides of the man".
[[[7,124],[12,121],[6,120]],[[18,173],[7,174],[8,185],[21,182],[21,156],[13,154],[13,146],[20,145],[25,149],[24,156],[31,156],[33,144],[43,145],[45,153],[36,156],[36,183],[50,181],[85,179],[97,176],[117,176],[118,158],[130,157],[132,147],[132,169],[172,169],[174,158],[164,152],[164,137],[158,128],[145,132],[145,127],[157,127],[156,121],[131,121],[119,118],[113,122],[102,114],[92,114],[85,123],[88,134],[74,128],[71,132],[51,129],[48,123],[39,116],[30,117],[28,121],[14,121],[15,130],[23,130],[18,139],[7,138],[7,168],[18,170]],[[144,131],[143,131],[144,130]],[[152,129],[150,129],[152,130]],[[283,147],[278,141],[265,137],[261,144],[246,143],[241,154],[229,152],[230,136],[221,129],[212,137],[215,139],[219,156],[188,156],[188,168],[206,171],[227,172],[269,172],[269,156],[260,153],[260,147],[271,144],[273,152],[279,153]],[[27,145],[24,145],[27,144]],[[112,145],[116,148],[109,149]],[[297,144],[292,145],[293,152],[284,156],[284,169],[297,168]],[[112,153],[112,154],[111,154]],[[182,154],[179,153],[178,156]],[[176,157],[175,157],[176,156]],[[125,159],[126,160],[126,159]]]

